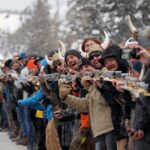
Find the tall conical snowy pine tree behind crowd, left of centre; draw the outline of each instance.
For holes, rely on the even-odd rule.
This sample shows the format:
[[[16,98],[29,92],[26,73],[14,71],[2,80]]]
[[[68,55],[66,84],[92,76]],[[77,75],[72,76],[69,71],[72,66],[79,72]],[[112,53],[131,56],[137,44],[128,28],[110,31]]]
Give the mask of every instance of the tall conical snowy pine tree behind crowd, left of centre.
[[[46,0],[37,0],[34,5],[33,15],[27,21],[26,26],[29,27],[27,32],[27,40],[29,40],[29,48],[31,51],[45,53],[50,49],[50,12],[49,5]]]

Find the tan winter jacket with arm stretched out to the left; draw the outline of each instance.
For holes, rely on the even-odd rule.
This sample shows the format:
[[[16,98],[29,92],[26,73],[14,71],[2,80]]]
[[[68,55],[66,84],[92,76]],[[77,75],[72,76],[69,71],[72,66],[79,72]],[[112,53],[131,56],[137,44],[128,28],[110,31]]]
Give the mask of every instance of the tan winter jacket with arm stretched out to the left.
[[[68,95],[64,100],[66,104],[80,112],[88,112],[94,137],[110,132],[114,129],[111,119],[111,108],[100,92],[91,85],[85,98]]]

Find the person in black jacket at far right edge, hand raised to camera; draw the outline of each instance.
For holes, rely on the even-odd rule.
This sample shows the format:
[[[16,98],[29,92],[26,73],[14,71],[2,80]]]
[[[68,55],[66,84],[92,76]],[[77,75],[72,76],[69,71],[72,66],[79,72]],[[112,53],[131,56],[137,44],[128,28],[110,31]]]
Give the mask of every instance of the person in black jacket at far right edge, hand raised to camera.
[[[150,92],[150,54],[143,47],[138,46],[140,49],[139,61],[144,64],[145,67],[142,67],[140,78],[145,84],[148,85],[147,92]],[[145,70],[143,70],[145,68]],[[143,72],[143,73],[142,73]],[[136,99],[135,106],[135,121],[132,131],[134,134],[132,135],[133,139],[133,148],[135,150],[148,150],[149,142],[150,142],[150,130],[149,130],[149,118],[150,118],[150,103],[149,96],[142,95]]]

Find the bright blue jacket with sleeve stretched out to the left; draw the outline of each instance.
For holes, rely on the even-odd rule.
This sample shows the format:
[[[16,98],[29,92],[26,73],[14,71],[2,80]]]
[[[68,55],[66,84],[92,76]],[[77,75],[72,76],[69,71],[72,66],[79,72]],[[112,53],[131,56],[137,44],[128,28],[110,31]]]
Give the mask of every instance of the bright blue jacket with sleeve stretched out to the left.
[[[42,88],[40,88],[33,96],[18,100],[18,105],[21,106],[29,106],[34,109],[42,110],[44,111],[44,117],[48,120],[51,120],[53,118],[53,111],[52,111],[52,105],[48,105],[45,107],[43,104],[41,104],[41,100],[45,98],[45,94],[42,91]]]

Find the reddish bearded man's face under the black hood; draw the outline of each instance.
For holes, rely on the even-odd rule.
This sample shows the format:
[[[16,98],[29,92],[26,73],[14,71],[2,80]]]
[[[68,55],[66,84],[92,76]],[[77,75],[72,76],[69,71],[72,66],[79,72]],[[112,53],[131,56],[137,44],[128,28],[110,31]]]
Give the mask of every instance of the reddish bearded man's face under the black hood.
[[[105,67],[110,71],[115,71],[118,69],[118,62],[114,57],[108,57],[104,61]]]

